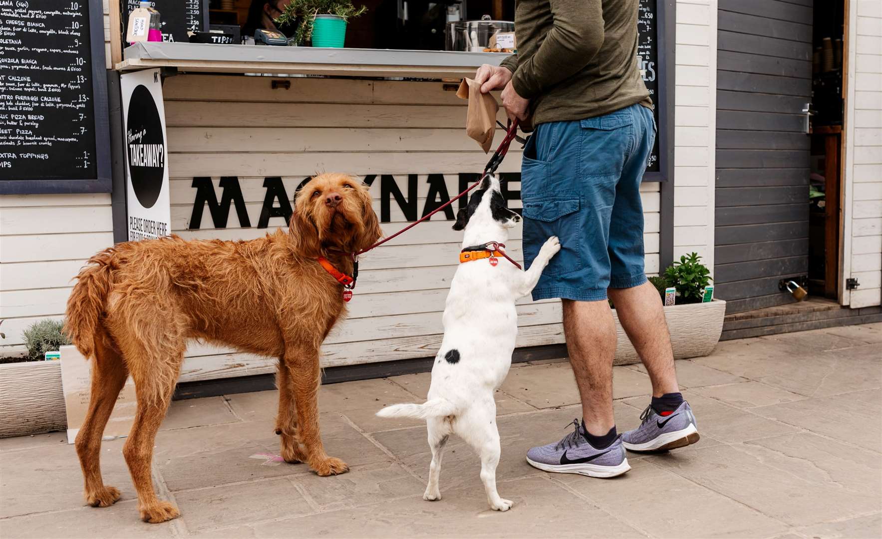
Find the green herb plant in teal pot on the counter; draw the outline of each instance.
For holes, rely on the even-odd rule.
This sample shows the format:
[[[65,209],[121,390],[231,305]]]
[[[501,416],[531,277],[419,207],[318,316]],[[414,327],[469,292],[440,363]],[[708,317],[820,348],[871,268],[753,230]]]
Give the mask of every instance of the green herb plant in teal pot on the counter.
[[[342,48],[348,19],[363,15],[368,8],[355,7],[351,0],[293,0],[276,19],[295,27],[297,45]]]

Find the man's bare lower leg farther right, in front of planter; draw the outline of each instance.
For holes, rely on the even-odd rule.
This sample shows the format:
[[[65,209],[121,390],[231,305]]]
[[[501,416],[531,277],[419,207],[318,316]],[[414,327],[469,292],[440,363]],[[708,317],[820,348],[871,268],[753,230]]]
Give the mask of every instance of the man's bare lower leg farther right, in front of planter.
[[[650,282],[633,288],[609,288],[618,321],[637,349],[653,383],[653,396],[677,393],[674,353],[658,290]],[[564,316],[566,310],[564,309]],[[566,326],[564,326],[564,331]],[[567,336],[569,341],[569,335]],[[572,360],[571,360],[572,361]],[[584,400],[583,400],[584,402]],[[587,422],[587,419],[586,419]]]

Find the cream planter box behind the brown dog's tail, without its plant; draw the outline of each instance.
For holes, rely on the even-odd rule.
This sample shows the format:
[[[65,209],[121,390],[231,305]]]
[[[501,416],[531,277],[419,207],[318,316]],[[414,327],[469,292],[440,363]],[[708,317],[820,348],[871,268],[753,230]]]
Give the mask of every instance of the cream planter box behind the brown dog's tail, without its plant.
[[[0,364],[0,438],[64,430],[61,362]]]

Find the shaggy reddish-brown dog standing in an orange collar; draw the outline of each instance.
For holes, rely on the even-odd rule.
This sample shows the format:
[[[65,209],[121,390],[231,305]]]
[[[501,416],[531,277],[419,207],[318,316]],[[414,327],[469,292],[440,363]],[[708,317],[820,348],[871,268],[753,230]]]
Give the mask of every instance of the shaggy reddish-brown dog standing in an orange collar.
[[[351,259],[338,251],[359,251],[379,236],[367,188],[322,174],[297,194],[287,233],[249,242],[172,236],[119,243],[91,258],[68,300],[65,326],[83,356],[94,357],[76,442],[86,502],[106,507],[120,496],[101,480],[101,434],[131,374],[138,412],[123,455],[138,511],[148,522],[178,516],[175,505],[156,498],[150,466],[188,338],[278,357],[282,457],[307,462],[318,475],[348,471],[325,453],[318,432],[318,348],[345,308],[343,286],[317,258],[351,275]]]

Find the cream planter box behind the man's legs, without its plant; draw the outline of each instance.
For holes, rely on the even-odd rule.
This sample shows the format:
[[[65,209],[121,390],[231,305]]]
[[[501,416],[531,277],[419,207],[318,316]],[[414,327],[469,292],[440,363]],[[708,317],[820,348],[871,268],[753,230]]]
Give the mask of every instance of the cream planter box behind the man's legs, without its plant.
[[[637,350],[628,341],[624,329],[618,323],[616,310],[618,342],[616,346],[617,365],[639,363]],[[722,320],[726,316],[726,302],[714,299],[711,303],[686,303],[664,308],[664,316],[668,320],[671,346],[674,348],[674,359],[707,356],[716,343],[720,341]]]

